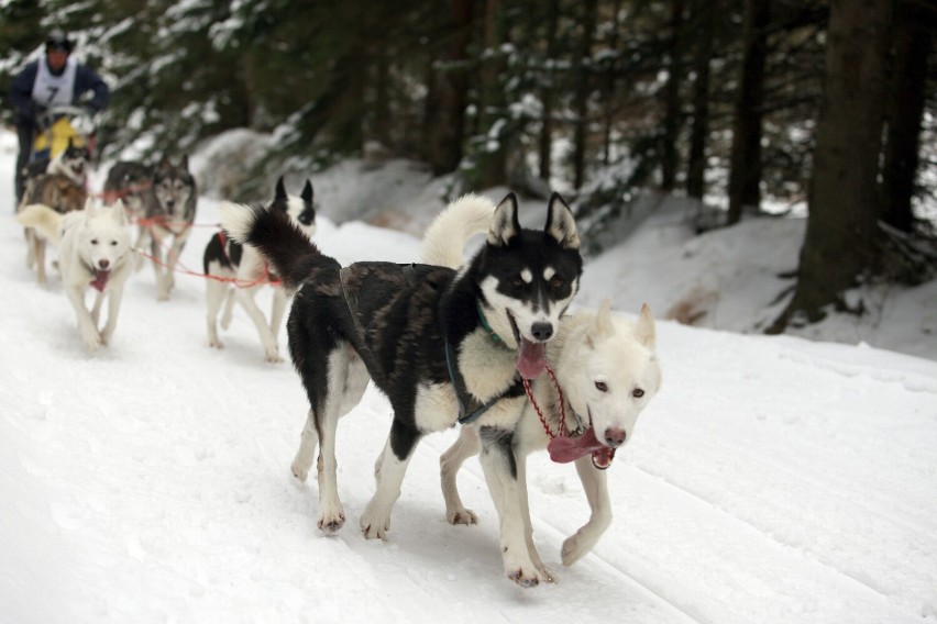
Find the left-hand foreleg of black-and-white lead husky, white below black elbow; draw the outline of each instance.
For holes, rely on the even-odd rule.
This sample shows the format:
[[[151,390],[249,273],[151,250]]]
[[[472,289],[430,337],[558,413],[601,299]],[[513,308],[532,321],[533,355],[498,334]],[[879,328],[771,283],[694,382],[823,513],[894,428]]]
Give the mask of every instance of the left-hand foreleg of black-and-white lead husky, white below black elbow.
[[[375,467],[376,491],[361,514],[361,530],[365,538],[387,539],[390,511],[400,498],[400,486],[420,437],[418,431],[404,425],[395,417],[394,424],[390,425],[390,437],[382,452],[379,467]]]

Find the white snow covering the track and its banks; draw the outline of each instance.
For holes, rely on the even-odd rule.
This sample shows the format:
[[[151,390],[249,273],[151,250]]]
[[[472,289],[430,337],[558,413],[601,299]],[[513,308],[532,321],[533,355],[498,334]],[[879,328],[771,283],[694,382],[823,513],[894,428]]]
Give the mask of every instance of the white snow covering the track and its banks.
[[[0,132],[0,170],[12,171],[13,143]],[[342,188],[379,197],[361,188],[361,169],[338,171],[313,177],[326,215],[338,214],[330,201]],[[664,383],[610,468],[611,527],[571,568],[560,545],[588,515],[575,470],[531,457],[534,542],[560,581],[523,590],[504,577],[477,461],[460,484],[479,524],[445,522],[438,458],[454,431],[417,449],[390,541],[362,537],[389,426],[373,389],[339,430],[349,521],[338,535],[319,532],[315,479],[300,484],[289,471],[307,411],[298,378],[289,364],[264,363],[241,310],[222,333],[227,348],[207,346],[200,278],[178,276],[172,300],[157,302],[152,271],[134,276],[113,344],[88,354],[56,274],[41,288],[25,268],[8,178],[2,622],[937,620],[933,285],[890,292],[875,323],[815,330],[851,334],[841,344],[741,333],[770,315],[779,289],[765,276],[795,266],[796,221],[691,239],[677,207],[591,259],[578,302],[611,297],[632,315],[649,301]],[[437,210],[432,192],[414,192],[410,210]],[[183,258],[194,271],[216,209],[200,199]],[[317,241],[343,263],[417,259],[412,233],[326,215]],[[694,289],[704,321],[723,328],[662,320]]]

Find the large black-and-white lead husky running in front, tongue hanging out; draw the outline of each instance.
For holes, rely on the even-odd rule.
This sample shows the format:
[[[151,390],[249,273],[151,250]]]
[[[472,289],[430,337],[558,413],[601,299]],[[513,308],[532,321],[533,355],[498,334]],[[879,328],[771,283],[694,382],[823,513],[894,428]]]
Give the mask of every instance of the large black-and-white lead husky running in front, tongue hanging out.
[[[490,204],[474,196],[458,201]],[[521,229],[517,211],[510,193],[494,208],[481,250],[456,272],[377,261],[342,268],[280,211],[219,207],[222,227],[256,247],[296,291],[289,352],[310,410],[293,470],[305,480],[321,445],[321,530],[337,531],[345,521],[335,430],[368,379],[389,399],[394,422],[375,466],[376,492],[361,516],[365,537],[386,538],[407,464],[430,432],[477,423],[489,482],[515,478],[509,434],[527,401],[521,376],[543,370],[545,345],[582,274],[575,222],[559,194],[550,199],[542,231]],[[527,584],[537,570],[523,568],[521,555],[506,553],[505,565]]]

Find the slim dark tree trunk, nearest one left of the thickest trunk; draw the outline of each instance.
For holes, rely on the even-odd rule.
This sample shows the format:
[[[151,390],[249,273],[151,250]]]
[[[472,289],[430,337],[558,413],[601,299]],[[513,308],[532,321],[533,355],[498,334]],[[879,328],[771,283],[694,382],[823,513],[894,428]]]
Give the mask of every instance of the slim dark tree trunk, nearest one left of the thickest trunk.
[[[761,118],[764,101],[765,29],[771,19],[770,0],[746,0],[742,75],[736,93],[732,151],[729,171],[728,223],[738,223],[745,207],[761,203]]]

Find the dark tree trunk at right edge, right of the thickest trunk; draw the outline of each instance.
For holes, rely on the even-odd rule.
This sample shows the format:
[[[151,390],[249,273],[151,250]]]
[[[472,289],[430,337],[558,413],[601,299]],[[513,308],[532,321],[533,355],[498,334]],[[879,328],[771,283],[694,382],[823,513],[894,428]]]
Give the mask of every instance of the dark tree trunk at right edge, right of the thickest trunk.
[[[927,56],[930,32],[924,9],[907,4],[895,22],[894,63],[888,99],[888,133],[882,186],[885,223],[911,232],[912,199],[918,166],[918,141],[927,100]]]

